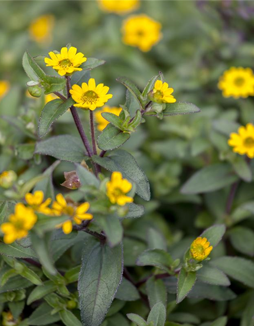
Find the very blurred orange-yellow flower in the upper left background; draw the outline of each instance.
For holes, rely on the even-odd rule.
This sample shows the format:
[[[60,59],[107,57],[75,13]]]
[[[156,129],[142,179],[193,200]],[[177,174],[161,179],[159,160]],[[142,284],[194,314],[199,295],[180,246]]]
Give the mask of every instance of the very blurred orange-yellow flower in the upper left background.
[[[51,42],[54,26],[53,15],[43,15],[34,19],[29,26],[30,37],[36,42]]]

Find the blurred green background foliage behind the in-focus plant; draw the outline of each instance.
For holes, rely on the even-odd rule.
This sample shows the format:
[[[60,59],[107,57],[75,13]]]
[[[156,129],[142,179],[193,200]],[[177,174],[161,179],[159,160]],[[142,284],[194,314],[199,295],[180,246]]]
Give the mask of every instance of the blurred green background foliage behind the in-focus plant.
[[[7,116],[0,121],[0,171],[13,169],[18,173],[20,183],[37,176],[48,166],[45,158],[35,155],[32,159],[33,155],[24,154],[20,147],[20,144],[30,144],[37,139],[38,117],[45,101],[43,96],[35,99],[26,94],[27,77],[21,65],[26,49],[35,57],[71,43],[87,58],[106,60],[106,64],[93,70],[91,76],[110,87],[113,98],[107,104],[111,106],[119,106],[125,101],[124,87],[116,82],[116,77],[127,76],[143,89],[149,78],[162,71],[165,81],[174,88],[177,100],[192,102],[201,108],[202,112],[195,115],[169,117],[162,121],[146,118],[146,123],[123,146],[144,169],[152,191],[152,201],[145,204],[145,216],[137,221],[124,221],[127,266],[134,266],[137,256],[146,248],[142,241],[146,239],[149,227],[164,234],[172,246],[171,253],[184,253],[193,237],[214,223],[226,221],[226,224],[234,225],[241,222],[241,226],[253,229],[253,219],[246,219],[250,213],[244,214],[239,209],[241,204],[254,198],[252,176],[246,176],[247,172],[240,165],[241,159],[227,144],[229,133],[236,131],[239,124],[254,122],[253,100],[224,98],[217,88],[219,76],[231,66],[253,66],[253,4],[241,0],[141,0],[135,13],[145,13],[162,24],[163,38],[149,52],[121,41],[122,22],[133,13],[106,13],[94,0],[9,0],[1,3],[0,10],[0,79],[9,80],[11,85],[0,100],[0,114]],[[42,15],[51,16],[52,30],[45,41],[38,42],[31,37],[29,27]],[[79,113],[86,124],[88,116]],[[68,112],[57,121],[52,133],[77,134]],[[48,160],[53,162],[52,158]],[[248,181],[239,186],[233,218],[228,218],[230,212],[226,211],[227,186],[203,195],[199,195],[202,191],[197,194],[180,192],[183,183],[196,170],[219,161],[230,162],[232,169]],[[71,166],[67,162],[62,162],[55,170],[54,185],[58,191],[63,191],[59,184],[64,181],[63,171],[68,170]],[[252,164],[251,170],[254,170]],[[3,190],[0,195],[4,196]],[[186,237],[181,240],[183,236]],[[228,255],[246,255],[244,249],[234,246],[228,238],[212,251],[211,256],[225,255],[226,252]],[[247,256],[253,255],[254,248]],[[62,264],[65,264],[64,260]],[[135,268],[138,272],[139,267]],[[227,312],[238,324],[249,293],[238,283],[233,289],[242,296],[229,306],[221,302],[198,303],[193,300],[191,305],[184,301],[180,309],[196,314],[194,324]],[[124,309],[128,311],[128,307]],[[132,312],[133,309],[130,308]],[[187,322],[193,320],[185,317]]]

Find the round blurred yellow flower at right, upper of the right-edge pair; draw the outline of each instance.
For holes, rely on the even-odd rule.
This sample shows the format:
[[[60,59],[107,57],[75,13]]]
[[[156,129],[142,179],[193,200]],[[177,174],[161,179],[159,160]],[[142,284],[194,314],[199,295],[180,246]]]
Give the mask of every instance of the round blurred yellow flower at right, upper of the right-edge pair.
[[[254,95],[254,75],[250,68],[231,67],[219,78],[218,88],[224,97],[234,98]]]

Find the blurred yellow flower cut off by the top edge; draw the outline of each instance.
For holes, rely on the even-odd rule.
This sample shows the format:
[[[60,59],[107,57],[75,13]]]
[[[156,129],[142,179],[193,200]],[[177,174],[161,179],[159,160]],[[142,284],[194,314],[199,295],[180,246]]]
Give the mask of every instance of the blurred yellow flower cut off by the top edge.
[[[116,14],[126,14],[139,7],[140,0],[97,0],[102,10]]]

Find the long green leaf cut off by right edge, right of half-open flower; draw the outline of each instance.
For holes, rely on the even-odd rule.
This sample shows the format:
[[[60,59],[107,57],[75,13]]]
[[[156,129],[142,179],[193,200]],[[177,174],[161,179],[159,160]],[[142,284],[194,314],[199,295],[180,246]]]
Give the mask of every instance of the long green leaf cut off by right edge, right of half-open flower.
[[[232,279],[254,288],[254,263],[252,261],[241,257],[224,256],[213,259],[211,263]]]

